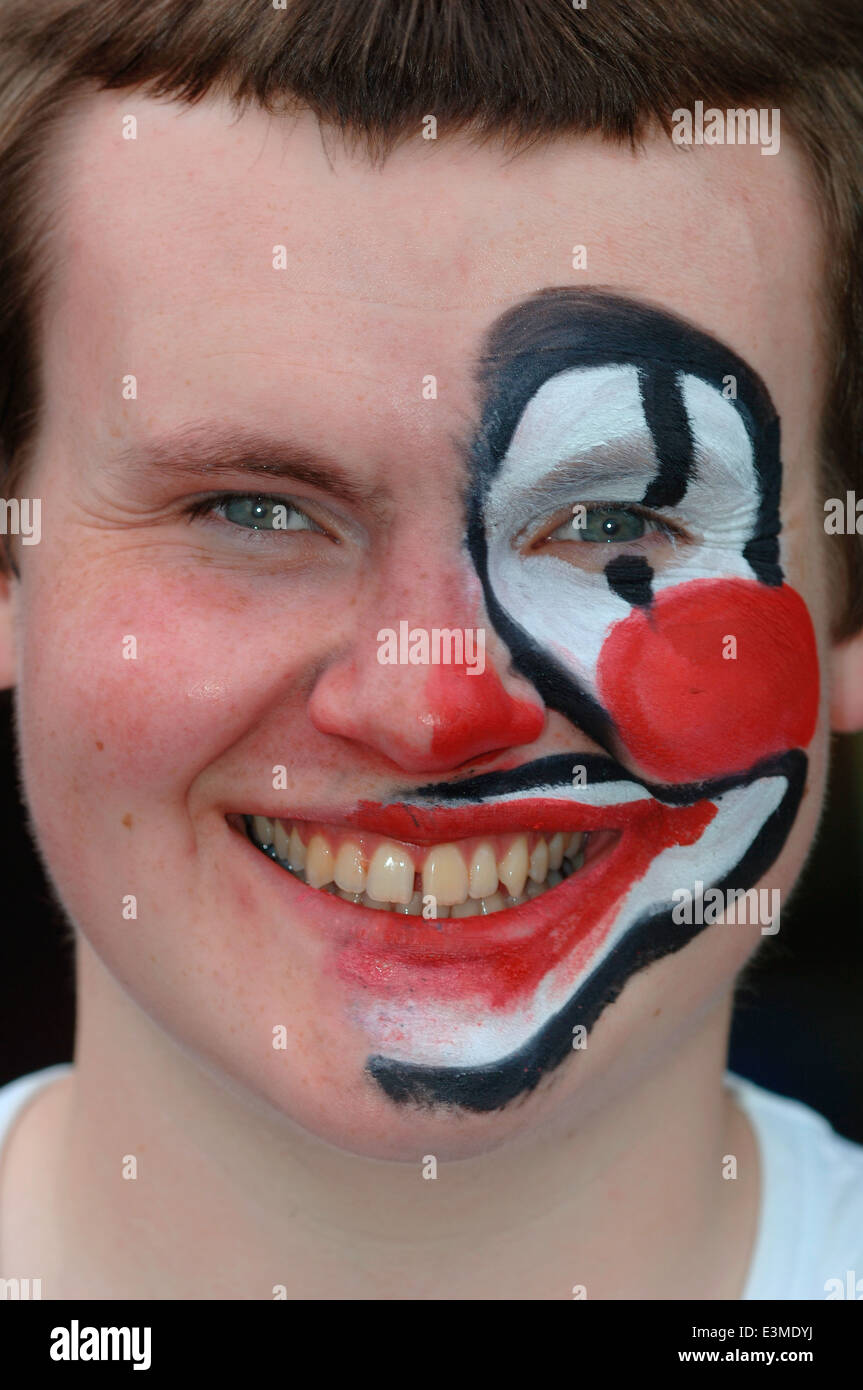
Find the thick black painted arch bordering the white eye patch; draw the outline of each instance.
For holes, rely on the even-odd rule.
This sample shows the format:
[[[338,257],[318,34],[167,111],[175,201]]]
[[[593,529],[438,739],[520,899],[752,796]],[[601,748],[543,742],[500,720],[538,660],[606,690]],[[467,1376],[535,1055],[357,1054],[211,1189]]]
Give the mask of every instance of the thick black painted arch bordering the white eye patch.
[[[698,377],[721,391],[734,377],[738,411],[752,442],[759,488],[756,534],[743,556],[763,584],[782,582],[780,567],[780,423],[767,386],[730,348],[700,332],[667,310],[602,291],[543,289],[507,310],[488,334],[477,375],[484,393],[482,424],[471,450],[472,482],[466,495],[467,549],[482,584],[486,610],[495,631],[510,649],[513,667],[542,695],[545,703],[580,727],[593,742],[611,752],[611,721],[602,705],[573,674],[521,627],[492,589],[484,509],[492,482],[510,446],[528,402],[552,377],[571,367],[635,366],[642,399],[650,400],[652,428],[660,473],[659,492],[674,495],[692,467],[691,448],[682,450],[670,438],[685,409],[680,374]],[[673,384],[674,400],[661,417],[656,384]],[[687,421],[687,438],[691,431]]]

